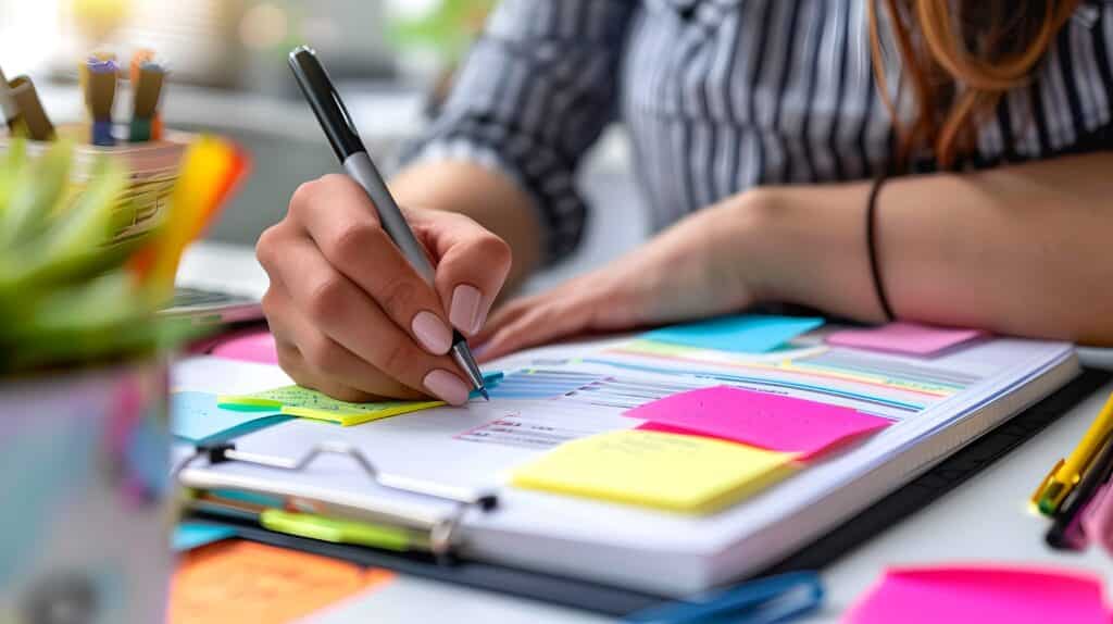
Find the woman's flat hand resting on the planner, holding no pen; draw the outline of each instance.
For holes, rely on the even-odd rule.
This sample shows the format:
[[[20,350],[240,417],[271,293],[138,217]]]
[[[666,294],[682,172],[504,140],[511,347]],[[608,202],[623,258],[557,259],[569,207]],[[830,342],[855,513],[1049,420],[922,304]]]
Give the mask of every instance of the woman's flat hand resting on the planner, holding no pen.
[[[489,361],[580,334],[617,331],[737,311],[758,300],[745,237],[758,194],[701,210],[610,265],[511,301],[472,343]]]

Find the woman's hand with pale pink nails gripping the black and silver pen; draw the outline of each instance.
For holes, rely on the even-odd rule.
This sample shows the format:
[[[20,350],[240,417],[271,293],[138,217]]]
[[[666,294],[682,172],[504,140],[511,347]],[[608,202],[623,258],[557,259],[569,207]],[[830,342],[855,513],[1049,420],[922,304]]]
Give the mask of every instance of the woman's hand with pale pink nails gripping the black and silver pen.
[[[510,270],[510,247],[462,215],[405,209],[436,267],[427,285],[347,176],[302,185],[257,246],[270,277],[263,308],[283,369],[353,402],[433,395],[467,400],[446,354],[451,327],[474,336]]]

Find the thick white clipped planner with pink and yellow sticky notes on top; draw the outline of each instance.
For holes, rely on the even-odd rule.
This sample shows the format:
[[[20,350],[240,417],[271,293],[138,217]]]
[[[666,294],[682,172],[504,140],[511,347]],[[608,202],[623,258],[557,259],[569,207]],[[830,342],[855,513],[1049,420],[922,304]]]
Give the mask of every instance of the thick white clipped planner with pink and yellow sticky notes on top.
[[[1081,370],[1062,343],[979,337],[927,356],[827,333],[768,353],[652,334],[533,349],[485,367],[504,374],[490,403],[349,427],[283,419],[177,476],[195,508],[269,514],[279,529],[282,513],[305,512],[383,527],[387,547],[681,596],[780,561]],[[289,383],[211,357],[181,361],[173,382],[224,395]],[[736,400],[755,418],[790,414],[750,432],[754,447],[683,435]],[[836,417],[857,434],[825,447]],[[799,448],[778,446],[787,434]]]

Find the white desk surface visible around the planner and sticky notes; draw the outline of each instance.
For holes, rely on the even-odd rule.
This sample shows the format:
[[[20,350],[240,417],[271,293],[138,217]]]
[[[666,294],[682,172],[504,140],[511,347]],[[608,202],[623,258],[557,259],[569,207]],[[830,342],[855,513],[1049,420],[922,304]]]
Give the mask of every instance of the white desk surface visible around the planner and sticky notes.
[[[187,255],[179,276],[193,284],[232,280],[260,294],[266,277],[247,249],[201,245]],[[1107,365],[1109,351],[1086,350],[1085,360]],[[1022,447],[942,499],[854,551],[824,573],[828,597],[821,613],[801,624],[834,624],[886,566],[955,562],[1007,562],[1084,568],[1113,580],[1113,558],[1099,549],[1062,554],[1046,547],[1047,523],[1030,515],[1027,497],[1051,465],[1068,453],[1099,412],[1113,383]],[[1113,596],[1113,587],[1109,587]],[[496,594],[405,578],[339,603],[306,620],[314,624],[421,622],[451,618],[510,624],[594,622],[598,617]]]

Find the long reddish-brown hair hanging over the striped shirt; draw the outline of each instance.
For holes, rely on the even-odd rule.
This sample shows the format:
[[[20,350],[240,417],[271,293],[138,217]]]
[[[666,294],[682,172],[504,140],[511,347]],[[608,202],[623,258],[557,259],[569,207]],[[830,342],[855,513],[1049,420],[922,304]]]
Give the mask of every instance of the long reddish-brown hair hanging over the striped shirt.
[[[874,76],[896,128],[897,162],[930,148],[946,169],[969,151],[974,123],[1027,81],[1080,1],[869,0]],[[887,12],[917,106],[907,127],[886,83],[878,4]]]

